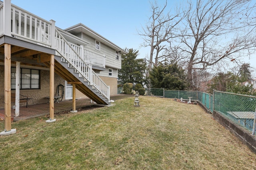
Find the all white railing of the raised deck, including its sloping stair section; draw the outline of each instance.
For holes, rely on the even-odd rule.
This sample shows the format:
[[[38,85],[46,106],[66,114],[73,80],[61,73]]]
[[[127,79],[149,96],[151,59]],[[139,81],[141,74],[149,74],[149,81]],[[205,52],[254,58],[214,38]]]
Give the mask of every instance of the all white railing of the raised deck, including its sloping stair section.
[[[3,8],[3,4],[0,4],[0,35],[5,34],[7,28],[9,36],[56,49],[56,55],[61,55],[70,67],[92,85],[93,89],[110,100],[110,86],[92,70],[92,66],[105,68],[105,56],[85,49],[83,45],[68,42],[55,27],[55,21],[46,21],[13,4],[9,7],[11,16],[6,17],[3,9],[8,10],[7,6]],[[11,20],[11,25],[4,26],[4,17]]]

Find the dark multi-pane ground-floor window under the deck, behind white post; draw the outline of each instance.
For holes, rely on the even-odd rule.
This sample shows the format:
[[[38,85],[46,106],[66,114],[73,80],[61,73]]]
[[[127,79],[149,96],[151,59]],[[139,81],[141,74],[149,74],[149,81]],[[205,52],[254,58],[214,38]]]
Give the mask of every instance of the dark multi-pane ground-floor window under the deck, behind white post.
[[[39,89],[40,88],[39,70],[20,68],[20,89]],[[16,68],[11,68],[11,89],[16,86]]]

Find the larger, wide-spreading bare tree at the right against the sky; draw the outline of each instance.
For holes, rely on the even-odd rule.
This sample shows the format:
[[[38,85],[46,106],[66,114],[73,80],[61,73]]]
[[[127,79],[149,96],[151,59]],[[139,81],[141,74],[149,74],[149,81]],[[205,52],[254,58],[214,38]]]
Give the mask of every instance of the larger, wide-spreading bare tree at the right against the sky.
[[[181,37],[173,44],[187,62],[187,79],[193,85],[193,70],[204,70],[220,61],[234,61],[256,47],[255,9],[250,0],[197,0],[182,23]],[[250,7],[250,8],[248,8]],[[249,20],[250,19],[250,20]],[[255,20],[255,19],[254,19]]]

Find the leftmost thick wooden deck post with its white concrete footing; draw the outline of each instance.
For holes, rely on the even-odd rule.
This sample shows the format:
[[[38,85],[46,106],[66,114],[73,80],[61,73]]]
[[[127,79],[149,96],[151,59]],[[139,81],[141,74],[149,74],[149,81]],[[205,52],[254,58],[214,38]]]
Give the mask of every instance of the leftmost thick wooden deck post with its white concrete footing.
[[[11,135],[11,45],[4,44],[4,131],[0,135]]]

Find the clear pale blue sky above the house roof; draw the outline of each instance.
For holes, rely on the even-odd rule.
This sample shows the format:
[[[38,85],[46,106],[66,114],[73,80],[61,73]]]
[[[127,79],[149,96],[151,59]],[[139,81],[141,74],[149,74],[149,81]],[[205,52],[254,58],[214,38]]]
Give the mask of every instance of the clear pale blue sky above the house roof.
[[[158,0],[158,4],[164,2]],[[11,3],[45,20],[56,21],[61,29],[83,23],[123,49],[139,50],[138,58],[149,55],[149,48],[140,48],[143,39],[137,33],[151,16],[149,0],[11,0]],[[176,3],[182,1],[168,0],[168,9],[174,9]],[[255,55],[244,61],[256,68]]]

